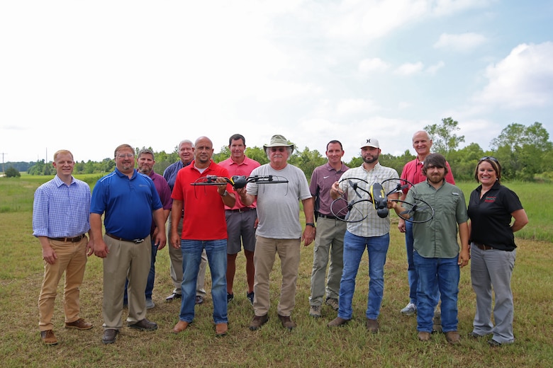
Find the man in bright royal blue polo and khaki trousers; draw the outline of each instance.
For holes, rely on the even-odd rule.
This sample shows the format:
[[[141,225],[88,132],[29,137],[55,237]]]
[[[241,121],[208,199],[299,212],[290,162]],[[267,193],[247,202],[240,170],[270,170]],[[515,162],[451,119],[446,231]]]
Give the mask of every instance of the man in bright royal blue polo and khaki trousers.
[[[127,323],[138,330],[155,330],[157,324],[146,319],[146,289],[150,270],[150,226],[164,227],[160,195],[150,177],[135,170],[135,152],[128,144],[115,150],[116,169],[100,178],[92,192],[90,231],[95,239],[94,254],[104,258],[104,344],[115,343],[123,327],[123,291],[128,278],[129,311]],[[102,238],[101,217],[106,234]],[[155,243],[165,246],[164,231]]]

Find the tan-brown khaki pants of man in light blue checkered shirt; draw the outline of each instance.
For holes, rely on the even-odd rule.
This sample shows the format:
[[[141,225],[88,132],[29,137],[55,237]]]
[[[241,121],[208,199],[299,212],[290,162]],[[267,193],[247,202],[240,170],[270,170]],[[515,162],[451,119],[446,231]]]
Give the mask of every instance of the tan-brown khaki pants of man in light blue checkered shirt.
[[[86,266],[86,236],[77,243],[50,240],[50,246],[57,255],[53,265],[44,261],[44,280],[38,297],[38,328],[41,331],[52,330],[52,316],[57,294],[57,284],[65,272],[63,309],[65,322],[79,319],[79,287],[84,277]]]

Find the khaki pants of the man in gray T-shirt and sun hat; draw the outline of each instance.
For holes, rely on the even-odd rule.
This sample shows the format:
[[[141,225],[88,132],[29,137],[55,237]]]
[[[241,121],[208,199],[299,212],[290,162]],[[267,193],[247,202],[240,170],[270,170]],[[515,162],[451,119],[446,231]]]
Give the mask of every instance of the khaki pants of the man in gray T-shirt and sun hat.
[[[279,253],[282,274],[277,313],[281,316],[290,316],[296,305],[300,239],[274,239],[257,236],[254,253],[254,311],[256,316],[263,316],[269,311],[269,275],[277,253]]]

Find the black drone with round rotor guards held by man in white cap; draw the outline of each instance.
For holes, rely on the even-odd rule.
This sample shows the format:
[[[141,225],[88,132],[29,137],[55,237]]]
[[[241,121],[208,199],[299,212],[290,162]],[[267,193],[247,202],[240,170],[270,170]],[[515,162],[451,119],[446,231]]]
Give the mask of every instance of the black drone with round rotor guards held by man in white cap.
[[[350,187],[353,189],[355,195],[354,199],[350,202],[347,201],[344,195],[338,197],[330,205],[330,212],[343,222],[362,222],[369,214],[363,214],[362,202],[370,202],[373,204],[376,213],[381,218],[385,218],[389,214],[388,209],[388,196],[393,193],[403,192],[404,189],[413,187],[413,183],[408,180],[391,178],[386,179],[382,183],[374,183],[369,185],[366,180],[361,178],[345,178],[340,180],[347,180]],[[384,183],[391,182],[395,186],[389,192],[384,191]],[[367,189],[367,187],[369,187]],[[429,222],[434,217],[434,209],[427,202],[417,198],[415,196],[415,202],[409,203],[403,200],[391,200],[391,202],[401,203],[403,211],[398,213],[398,216],[405,221],[412,222],[413,224],[422,224]]]

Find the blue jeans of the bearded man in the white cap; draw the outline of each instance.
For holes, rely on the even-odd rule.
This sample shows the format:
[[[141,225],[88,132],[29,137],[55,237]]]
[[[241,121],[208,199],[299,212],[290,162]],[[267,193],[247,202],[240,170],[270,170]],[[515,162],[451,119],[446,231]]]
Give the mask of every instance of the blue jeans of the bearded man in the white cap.
[[[338,317],[352,319],[352,299],[355,291],[355,278],[359,263],[367,248],[369,254],[369,296],[367,298],[367,318],[376,319],[380,314],[384,295],[384,264],[390,244],[390,234],[382,236],[357,236],[346,231],[344,236],[344,269],[340,280]]]

